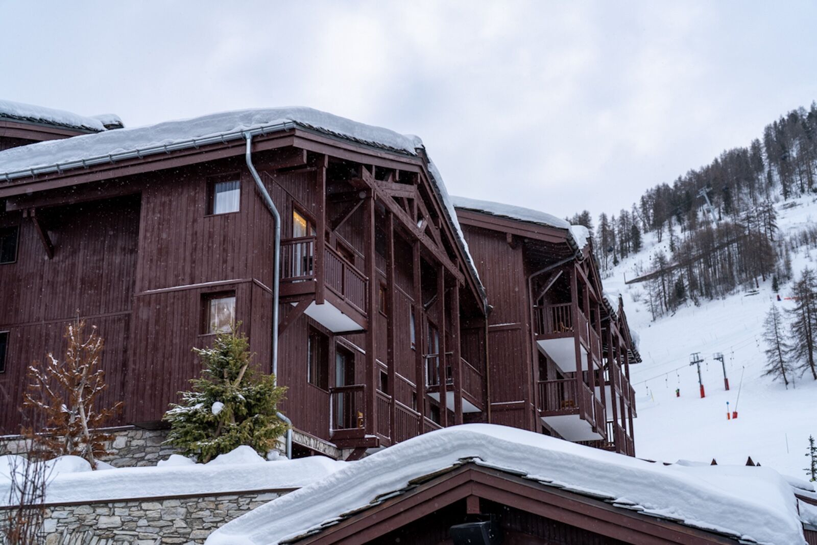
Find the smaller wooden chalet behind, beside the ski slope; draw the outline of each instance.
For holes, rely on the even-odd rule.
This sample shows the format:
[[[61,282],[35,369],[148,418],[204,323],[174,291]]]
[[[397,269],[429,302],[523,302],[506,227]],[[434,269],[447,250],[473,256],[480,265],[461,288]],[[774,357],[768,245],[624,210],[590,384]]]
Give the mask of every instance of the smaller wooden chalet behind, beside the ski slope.
[[[489,302],[489,421],[635,455],[623,305],[605,297],[583,227],[454,199]]]

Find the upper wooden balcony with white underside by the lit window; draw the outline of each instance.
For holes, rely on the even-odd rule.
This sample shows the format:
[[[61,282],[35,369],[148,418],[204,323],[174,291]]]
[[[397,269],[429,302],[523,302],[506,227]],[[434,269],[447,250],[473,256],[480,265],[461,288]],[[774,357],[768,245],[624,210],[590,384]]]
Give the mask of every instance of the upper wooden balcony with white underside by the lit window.
[[[316,270],[323,267],[323,270]],[[366,293],[368,278],[329,246],[323,260],[315,259],[315,237],[281,241],[280,294],[284,301],[323,294],[324,303],[313,303],[306,315],[335,333],[368,327]]]

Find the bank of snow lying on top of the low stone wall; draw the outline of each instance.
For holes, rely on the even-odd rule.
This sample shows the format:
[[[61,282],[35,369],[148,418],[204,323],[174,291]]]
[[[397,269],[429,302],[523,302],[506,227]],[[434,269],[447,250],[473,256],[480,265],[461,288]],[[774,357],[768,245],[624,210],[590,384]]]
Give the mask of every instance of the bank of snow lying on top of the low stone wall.
[[[15,457],[0,456],[0,506],[9,499],[9,475],[15,467],[13,464],[25,463],[25,458],[18,458],[16,462],[12,458]],[[176,454],[154,467],[121,467],[105,471],[91,471],[88,462],[76,456],[64,456],[46,463],[54,467],[49,475],[46,502],[70,503],[294,489],[325,480],[347,462],[324,456],[266,462],[250,447],[242,446],[206,464],[194,463]]]

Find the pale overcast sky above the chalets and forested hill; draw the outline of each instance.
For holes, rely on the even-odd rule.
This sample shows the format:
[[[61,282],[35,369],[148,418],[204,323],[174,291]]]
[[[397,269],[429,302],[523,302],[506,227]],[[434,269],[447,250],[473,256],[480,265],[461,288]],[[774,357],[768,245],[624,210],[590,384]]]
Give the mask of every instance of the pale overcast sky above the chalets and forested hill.
[[[308,105],[449,192],[618,212],[817,99],[817,3],[0,0],[0,97],[127,126]]]

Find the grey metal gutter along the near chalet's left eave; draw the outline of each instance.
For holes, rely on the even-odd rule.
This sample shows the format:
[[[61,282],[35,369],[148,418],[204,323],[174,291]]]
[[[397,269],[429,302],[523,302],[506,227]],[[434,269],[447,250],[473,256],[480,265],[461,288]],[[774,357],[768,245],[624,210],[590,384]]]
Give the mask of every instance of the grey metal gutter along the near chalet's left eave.
[[[282,123],[272,123],[269,125],[262,125],[246,131],[222,132],[217,135],[204,136],[203,138],[189,138],[182,141],[176,141],[172,144],[154,145],[149,148],[141,148],[129,151],[120,151],[115,154],[96,155],[88,159],[78,159],[75,161],[65,161],[64,163],[53,163],[42,167],[30,167],[21,170],[2,172],[0,176],[5,181],[16,180],[17,178],[25,178],[29,176],[37,176],[38,174],[51,174],[57,172],[61,174],[63,171],[71,170],[73,168],[88,168],[100,164],[113,164],[118,161],[127,159],[144,159],[148,155],[169,154],[173,151],[190,150],[191,148],[199,148],[203,145],[211,144],[226,144],[228,141],[243,140],[246,136],[263,136],[270,132],[287,131],[294,129],[296,126],[292,121],[284,121]],[[119,129],[121,130],[121,129]],[[93,134],[102,134],[96,132]]]

